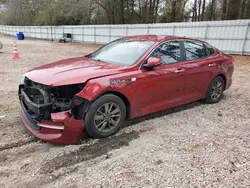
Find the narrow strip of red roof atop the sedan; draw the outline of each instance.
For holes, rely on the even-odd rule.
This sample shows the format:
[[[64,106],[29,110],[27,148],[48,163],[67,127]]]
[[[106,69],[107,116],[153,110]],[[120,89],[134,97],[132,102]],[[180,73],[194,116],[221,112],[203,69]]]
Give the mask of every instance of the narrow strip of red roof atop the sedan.
[[[123,37],[124,40],[146,40],[153,42],[163,42],[166,40],[177,40],[177,39],[185,39],[185,40],[195,40],[199,42],[204,42],[198,39],[192,39],[187,37],[173,36],[173,35],[135,35],[135,36],[127,36]],[[206,42],[204,42],[206,43]]]

